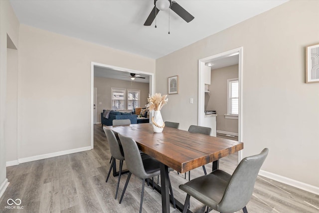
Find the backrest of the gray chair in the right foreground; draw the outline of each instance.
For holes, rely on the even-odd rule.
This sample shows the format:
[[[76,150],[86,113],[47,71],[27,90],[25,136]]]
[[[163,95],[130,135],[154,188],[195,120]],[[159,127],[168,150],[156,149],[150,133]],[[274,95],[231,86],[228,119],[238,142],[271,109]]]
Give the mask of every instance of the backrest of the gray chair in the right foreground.
[[[237,212],[248,204],[267,155],[268,149],[265,148],[260,154],[246,157],[239,163],[218,204],[219,212]]]

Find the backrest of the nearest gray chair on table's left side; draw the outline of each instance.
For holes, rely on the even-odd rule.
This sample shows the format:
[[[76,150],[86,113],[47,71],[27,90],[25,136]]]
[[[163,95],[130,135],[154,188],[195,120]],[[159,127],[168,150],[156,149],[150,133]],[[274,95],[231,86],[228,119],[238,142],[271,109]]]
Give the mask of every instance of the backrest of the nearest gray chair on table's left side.
[[[144,169],[143,161],[137,143],[132,138],[125,137],[121,134],[118,135],[123,146],[125,162],[128,170],[130,170],[133,175],[144,179],[145,177],[147,177],[147,174]]]

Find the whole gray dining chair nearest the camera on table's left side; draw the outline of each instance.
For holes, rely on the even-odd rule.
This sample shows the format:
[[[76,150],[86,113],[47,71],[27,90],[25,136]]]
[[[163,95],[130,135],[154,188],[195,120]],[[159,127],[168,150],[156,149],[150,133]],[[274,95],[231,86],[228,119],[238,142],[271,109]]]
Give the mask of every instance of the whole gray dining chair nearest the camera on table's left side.
[[[129,184],[131,175],[135,175],[138,178],[141,178],[142,181],[142,194],[141,194],[141,203],[140,203],[140,213],[142,212],[142,205],[143,205],[143,197],[144,197],[144,185],[145,185],[145,180],[149,178],[153,178],[155,176],[160,175],[160,162],[156,160],[155,158],[147,158],[143,159],[140,157],[140,151],[138,148],[138,145],[136,142],[129,137],[122,136],[119,134],[119,138],[121,140],[122,146],[123,146],[123,151],[124,155],[126,158],[126,165],[128,169],[130,170],[128,178],[126,180],[123,193],[120,199],[120,204],[123,200],[126,188]],[[173,191],[170,185],[170,180],[168,177],[168,182],[169,182],[169,191],[172,200],[174,201],[174,196],[173,196]],[[173,203],[174,208],[175,204]]]

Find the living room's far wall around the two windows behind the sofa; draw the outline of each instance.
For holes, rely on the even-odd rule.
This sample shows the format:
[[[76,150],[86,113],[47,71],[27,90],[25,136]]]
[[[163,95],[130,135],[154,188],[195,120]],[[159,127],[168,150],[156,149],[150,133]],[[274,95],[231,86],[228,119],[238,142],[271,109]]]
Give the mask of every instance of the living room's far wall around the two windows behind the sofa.
[[[111,78],[94,77],[94,88],[97,88],[97,123],[101,123],[103,109],[111,109],[111,88],[140,90],[140,105],[144,107],[148,103],[150,84],[136,81],[125,81]],[[102,102],[102,104],[99,104]],[[129,110],[132,111],[132,110]]]

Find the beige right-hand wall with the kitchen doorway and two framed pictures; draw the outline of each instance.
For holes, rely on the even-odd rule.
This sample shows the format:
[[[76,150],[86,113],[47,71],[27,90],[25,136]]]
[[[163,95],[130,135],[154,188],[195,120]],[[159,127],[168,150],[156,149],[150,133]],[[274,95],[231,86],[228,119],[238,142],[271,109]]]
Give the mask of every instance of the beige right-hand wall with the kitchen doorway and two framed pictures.
[[[157,59],[157,92],[166,94],[167,78],[179,75],[163,119],[184,130],[197,124],[198,59],[242,46],[243,156],[268,147],[264,172],[319,187],[319,83],[305,83],[305,47],[319,42],[318,8],[319,1],[288,1]]]

